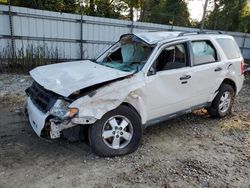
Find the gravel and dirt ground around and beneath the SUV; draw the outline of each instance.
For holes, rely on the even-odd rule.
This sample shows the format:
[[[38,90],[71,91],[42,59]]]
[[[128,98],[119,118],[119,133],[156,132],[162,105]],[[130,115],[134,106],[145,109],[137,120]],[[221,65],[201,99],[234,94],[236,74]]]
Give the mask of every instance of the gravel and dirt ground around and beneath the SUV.
[[[0,187],[250,187],[250,81],[224,119],[205,110],[147,128],[130,155],[38,138],[21,113],[28,76],[0,75]]]

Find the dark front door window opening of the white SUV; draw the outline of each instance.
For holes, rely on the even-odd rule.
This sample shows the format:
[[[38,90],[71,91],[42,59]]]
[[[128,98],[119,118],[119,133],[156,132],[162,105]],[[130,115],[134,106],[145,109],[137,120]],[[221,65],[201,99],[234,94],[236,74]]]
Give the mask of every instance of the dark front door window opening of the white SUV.
[[[162,50],[154,64],[156,72],[188,66],[185,44],[176,44],[166,47]]]

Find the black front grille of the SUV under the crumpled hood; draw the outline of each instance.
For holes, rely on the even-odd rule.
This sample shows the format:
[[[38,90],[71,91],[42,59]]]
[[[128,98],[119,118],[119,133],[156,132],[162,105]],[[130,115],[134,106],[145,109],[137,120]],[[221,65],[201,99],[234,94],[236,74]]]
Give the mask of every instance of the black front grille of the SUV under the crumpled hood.
[[[48,112],[58,98],[55,93],[46,90],[36,82],[33,82],[33,84],[26,89],[26,93],[33,104],[43,113]]]

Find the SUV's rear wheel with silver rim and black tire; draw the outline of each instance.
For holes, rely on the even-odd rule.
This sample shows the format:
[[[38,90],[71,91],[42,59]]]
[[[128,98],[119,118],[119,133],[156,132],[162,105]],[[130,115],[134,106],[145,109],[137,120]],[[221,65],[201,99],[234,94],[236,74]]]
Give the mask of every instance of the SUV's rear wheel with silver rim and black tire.
[[[230,114],[235,98],[235,92],[231,85],[222,84],[219,92],[214,98],[212,105],[208,108],[208,113],[212,117],[222,118]]]

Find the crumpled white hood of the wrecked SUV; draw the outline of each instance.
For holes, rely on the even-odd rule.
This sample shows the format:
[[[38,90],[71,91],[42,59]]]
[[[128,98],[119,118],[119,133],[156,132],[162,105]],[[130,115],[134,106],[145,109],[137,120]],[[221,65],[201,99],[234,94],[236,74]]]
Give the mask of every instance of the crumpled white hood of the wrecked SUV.
[[[80,89],[130,74],[89,60],[45,65],[30,71],[38,84],[64,97]]]

